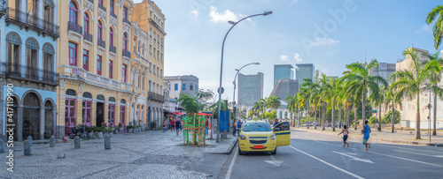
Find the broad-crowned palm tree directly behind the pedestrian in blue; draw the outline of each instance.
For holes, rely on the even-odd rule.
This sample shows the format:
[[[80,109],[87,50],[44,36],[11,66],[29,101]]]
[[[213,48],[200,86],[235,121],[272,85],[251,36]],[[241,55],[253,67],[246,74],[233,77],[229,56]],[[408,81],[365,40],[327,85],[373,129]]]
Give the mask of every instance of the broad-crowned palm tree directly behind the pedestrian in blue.
[[[371,60],[369,63],[351,63],[346,64],[348,71],[343,72],[345,75],[340,80],[345,81],[346,93],[359,93],[361,96],[361,108],[363,123],[366,121],[365,102],[368,91],[373,93],[374,98],[380,95],[380,87],[387,86],[387,82],[380,76],[370,75],[370,71],[377,67],[377,60]]]

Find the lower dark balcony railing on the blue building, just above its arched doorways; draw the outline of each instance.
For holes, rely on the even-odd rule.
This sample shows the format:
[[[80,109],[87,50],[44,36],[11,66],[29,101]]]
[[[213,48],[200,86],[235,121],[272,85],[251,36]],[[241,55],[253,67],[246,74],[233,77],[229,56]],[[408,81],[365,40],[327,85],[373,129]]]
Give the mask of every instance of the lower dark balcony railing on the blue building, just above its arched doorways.
[[[58,86],[58,73],[54,71],[46,71],[43,69],[13,63],[2,63],[1,66],[2,68],[4,66],[5,78],[30,80],[51,86]]]

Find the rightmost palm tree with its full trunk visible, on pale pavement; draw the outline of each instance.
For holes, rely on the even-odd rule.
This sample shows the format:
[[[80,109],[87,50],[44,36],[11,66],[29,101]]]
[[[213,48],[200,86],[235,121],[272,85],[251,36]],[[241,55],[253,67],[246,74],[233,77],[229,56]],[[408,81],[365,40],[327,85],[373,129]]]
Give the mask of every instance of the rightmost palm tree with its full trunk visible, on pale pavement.
[[[420,61],[416,50],[414,48],[408,48],[403,53],[404,56],[411,56],[412,63],[410,68],[406,70],[395,71],[392,74],[392,87],[396,93],[394,98],[396,101],[400,100],[403,96],[408,98],[408,101],[412,101],[416,97],[416,139],[420,137],[420,93],[424,90],[430,90],[431,88],[439,88],[439,86],[432,86],[435,81],[431,78],[432,73],[439,73],[441,66],[436,60]],[[393,114],[392,114],[393,115]]]

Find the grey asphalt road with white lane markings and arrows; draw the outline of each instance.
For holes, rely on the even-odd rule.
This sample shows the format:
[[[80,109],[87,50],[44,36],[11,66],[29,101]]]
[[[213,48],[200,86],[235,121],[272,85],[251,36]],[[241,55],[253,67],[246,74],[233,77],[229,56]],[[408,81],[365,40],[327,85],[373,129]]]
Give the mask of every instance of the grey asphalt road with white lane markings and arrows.
[[[238,155],[236,146],[214,177],[443,178],[443,147],[396,145],[369,138],[372,145],[365,152],[361,139],[350,136],[349,147],[342,147],[341,137],[291,131],[291,145],[278,147],[276,155]]]

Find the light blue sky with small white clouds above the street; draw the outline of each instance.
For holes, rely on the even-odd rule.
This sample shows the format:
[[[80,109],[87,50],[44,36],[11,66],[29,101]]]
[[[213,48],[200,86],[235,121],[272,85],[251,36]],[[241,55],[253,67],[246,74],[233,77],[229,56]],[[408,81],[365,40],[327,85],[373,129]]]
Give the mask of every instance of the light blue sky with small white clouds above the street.
[[[135,0],[135,3],[141,0]],[[222,99],[232,100],[235,69],[263,72],[264,96],[273,89],[274,64],[314,63],[341,76],[348,63],[396,63],[409,47],[435,53],[424,18],[440,1],[413,0],[159,0],[166,16],[165,75],[192,74],[216,92],[221,42],[228,20],[273,11],[235,26],[225,42]],[[237,96],[237,94],[236,94]]]

